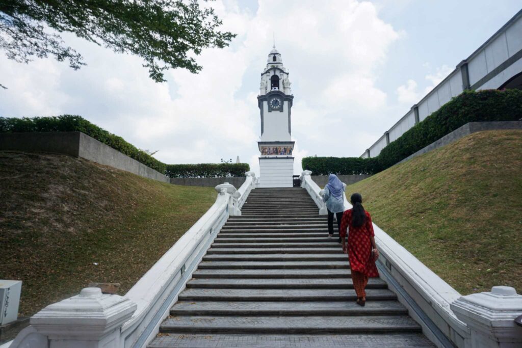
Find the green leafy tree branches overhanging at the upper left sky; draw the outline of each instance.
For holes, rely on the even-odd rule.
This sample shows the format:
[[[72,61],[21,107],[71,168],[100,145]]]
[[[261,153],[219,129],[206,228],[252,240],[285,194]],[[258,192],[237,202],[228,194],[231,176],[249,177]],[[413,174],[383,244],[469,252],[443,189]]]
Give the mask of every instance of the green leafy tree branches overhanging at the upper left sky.
[[[45,32],[48,26],[140,56],[149,76],[162,82],[171,68],[201,70],[192,56],[203,49],[228,46],[235,34],[218,31],[221,24],[196,0],[0,0],[0,49],[20,63],[51,55],[73,69],[86,65],[60,35]]]

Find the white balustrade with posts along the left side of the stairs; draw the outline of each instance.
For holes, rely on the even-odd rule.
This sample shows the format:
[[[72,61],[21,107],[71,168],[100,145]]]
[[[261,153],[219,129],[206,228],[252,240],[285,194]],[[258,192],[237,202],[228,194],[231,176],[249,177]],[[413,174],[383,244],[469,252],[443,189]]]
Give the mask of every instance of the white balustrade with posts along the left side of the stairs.
[[[39,311],[14,341],[0,347],[145,347],[157,335],[229,215],[241,215],[240,209],[255,186],[255,174],[245,174],[239,190],[228,183],[216,186],[216,202],[125,296],[86,288]]]

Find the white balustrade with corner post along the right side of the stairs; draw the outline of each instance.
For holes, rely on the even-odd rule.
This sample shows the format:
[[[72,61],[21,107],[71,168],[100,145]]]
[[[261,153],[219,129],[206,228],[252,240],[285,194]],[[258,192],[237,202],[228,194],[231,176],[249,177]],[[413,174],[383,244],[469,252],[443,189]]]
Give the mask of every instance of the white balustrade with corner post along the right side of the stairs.
[[[311,174],[311,171],[303,171],[301,186],[322,208],[322,190]],[[345,210],[351,209],[346,194],[344,201]],[[522,314],[522,296],[517,295],[515,289],[495,286],[492,292],[462,296],[375,223],[373,229],[380,252],[379,270],[386,273],[381,274],[382,278],[409,309],[410,316],[420,323],[426,337],[437,346],[522,346],[522,327],[514,322]],[[405,292],[405,296],[401,295]]]

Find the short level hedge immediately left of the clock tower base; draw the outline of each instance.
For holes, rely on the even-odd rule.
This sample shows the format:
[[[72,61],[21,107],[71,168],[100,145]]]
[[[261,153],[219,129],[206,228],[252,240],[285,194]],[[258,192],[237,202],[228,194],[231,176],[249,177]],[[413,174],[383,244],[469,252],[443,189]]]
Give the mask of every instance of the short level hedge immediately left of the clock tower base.
[[[247,163],[167,164],[165,175],[170,177],[234,177],[250,171]]]

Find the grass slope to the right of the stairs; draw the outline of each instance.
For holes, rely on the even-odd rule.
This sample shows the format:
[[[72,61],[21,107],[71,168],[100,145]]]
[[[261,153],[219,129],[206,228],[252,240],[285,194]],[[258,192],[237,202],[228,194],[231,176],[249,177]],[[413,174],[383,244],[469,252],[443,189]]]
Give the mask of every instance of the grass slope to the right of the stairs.
[[[462,294],[522,292],[522,130],[469,135],[346,189]]]

